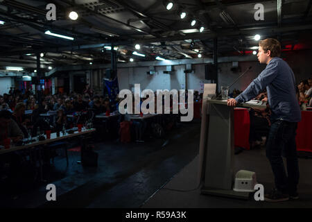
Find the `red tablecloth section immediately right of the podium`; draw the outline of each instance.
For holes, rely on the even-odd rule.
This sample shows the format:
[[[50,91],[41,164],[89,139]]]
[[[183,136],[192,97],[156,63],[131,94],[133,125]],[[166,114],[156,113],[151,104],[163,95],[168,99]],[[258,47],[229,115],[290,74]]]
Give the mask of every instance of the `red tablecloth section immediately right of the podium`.
[[[249,150],[249,131],[249,110],[245,108],[234,108],[234,146]]]

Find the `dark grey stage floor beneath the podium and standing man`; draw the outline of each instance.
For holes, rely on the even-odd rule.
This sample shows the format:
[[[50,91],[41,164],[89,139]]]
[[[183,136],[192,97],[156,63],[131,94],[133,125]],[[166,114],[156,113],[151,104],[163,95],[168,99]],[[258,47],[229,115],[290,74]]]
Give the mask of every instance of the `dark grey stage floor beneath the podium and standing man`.
[[[249,200],[225,198],[200,194],[197,181],[198,155],[173,180],[168,182],[144,204],[144,208],[275,208],[275,207],[312,207],[312,160],[300,158],[300,184],[298,186],[299,200],[289,200],[282,203],[268,203],[256,201],[253,195]],[[241,169],[257,173],[257,182],[261,183],[266,191],[273,185],[273,174],[266,159],[264,147],[251,151],[243,151],[234,155],[234,172]],[[192,191],[173,191],[192,190]]]

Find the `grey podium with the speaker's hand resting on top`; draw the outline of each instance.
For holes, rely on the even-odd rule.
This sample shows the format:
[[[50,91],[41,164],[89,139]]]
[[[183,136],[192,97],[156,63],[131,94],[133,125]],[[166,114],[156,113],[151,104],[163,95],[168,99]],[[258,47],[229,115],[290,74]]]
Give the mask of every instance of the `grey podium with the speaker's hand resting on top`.
[[[266,105],[241,103],[241,107]],[[234,183],[234,107],[227,100],[205,99],[202,104],[198,182],[202,194],[249,198],[249,193],[233,191]]]

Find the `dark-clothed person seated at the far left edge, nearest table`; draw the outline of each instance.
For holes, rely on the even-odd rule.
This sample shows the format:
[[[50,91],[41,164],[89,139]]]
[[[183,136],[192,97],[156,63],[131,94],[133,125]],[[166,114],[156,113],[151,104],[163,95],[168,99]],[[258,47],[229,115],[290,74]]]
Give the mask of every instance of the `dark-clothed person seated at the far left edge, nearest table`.
[[[11,119],[12,114],[8,110],[0,111],[0,139],[3,144],[3,139],[10,138],[14,143],[21,141],[24,138],[23,132],[17,123]]]

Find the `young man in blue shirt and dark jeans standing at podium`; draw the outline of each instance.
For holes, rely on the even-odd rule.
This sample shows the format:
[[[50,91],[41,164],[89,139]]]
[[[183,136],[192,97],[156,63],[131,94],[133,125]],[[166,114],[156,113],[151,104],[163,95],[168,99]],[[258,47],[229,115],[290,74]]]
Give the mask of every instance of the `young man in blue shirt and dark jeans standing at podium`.
[[[266,88],[271,109],[271,128],[266,145],[266,156],[275,177],[275,189],[265,195],[265,200],[277,202],[297,199],[299,167],[297,160],[295,132],[301,120],[300,106],[296,98],[295,76],[288,64],[279,58],[281,44],[268,38],[259,42],[258,60],[266,63],[257,78],[235,99],[228,99],[227,105],[250,101]],[[281,158],[285,151],[287,175]]]

